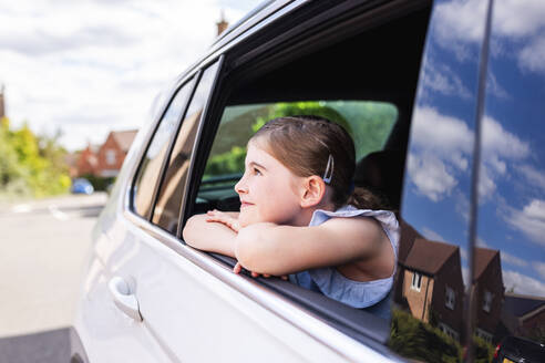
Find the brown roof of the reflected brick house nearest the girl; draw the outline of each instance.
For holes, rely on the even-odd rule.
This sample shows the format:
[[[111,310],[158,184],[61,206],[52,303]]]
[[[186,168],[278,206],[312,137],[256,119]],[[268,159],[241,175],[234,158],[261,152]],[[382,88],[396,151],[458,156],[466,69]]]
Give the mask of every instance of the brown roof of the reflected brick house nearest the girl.
[[[417,238],[404,265],[421,272],[435,274],[457,250],[459,247],[455,245]]]

